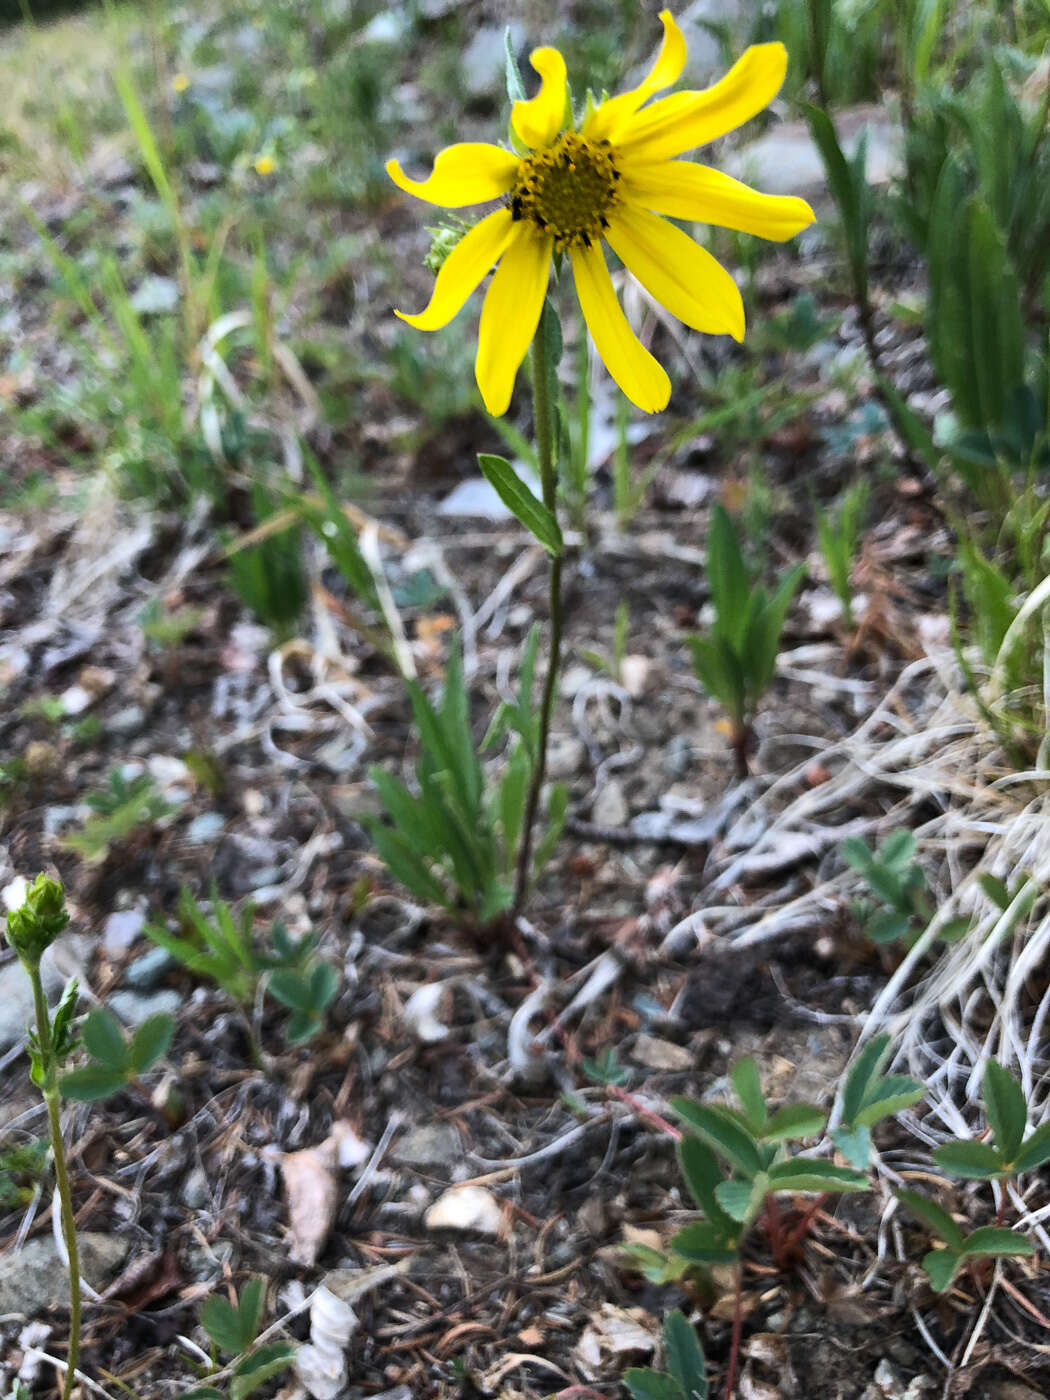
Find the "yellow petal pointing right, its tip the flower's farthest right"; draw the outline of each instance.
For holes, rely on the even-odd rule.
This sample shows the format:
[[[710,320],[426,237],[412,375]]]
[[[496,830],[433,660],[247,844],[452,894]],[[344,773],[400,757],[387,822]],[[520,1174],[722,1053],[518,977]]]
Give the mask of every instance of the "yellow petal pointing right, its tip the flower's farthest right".
[[[671,218],[692,218],[741,234],[783,242],[813,223],[813,211],[794,195],[760,195],[732,175],[689,161],[620,162],[620,193],[633,204]]]

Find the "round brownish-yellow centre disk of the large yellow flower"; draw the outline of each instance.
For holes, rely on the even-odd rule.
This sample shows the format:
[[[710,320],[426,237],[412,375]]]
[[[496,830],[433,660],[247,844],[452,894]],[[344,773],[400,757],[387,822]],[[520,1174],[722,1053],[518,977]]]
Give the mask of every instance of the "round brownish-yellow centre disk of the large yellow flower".
[[[619,179],[609,141],[563,132],[545,150],[522,160],[511,190],[511,214],[553,235],[557,252],[591,248],[609,227]]]

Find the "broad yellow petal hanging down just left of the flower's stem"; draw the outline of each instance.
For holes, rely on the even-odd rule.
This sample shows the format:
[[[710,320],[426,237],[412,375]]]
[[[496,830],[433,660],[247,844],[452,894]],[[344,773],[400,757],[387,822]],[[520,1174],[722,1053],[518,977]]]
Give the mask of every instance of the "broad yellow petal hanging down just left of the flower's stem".
[[[532,344],[543,311],[553,238],[515,224],[482,308],[475,375],[486,409],[505,413],[514,378]]]

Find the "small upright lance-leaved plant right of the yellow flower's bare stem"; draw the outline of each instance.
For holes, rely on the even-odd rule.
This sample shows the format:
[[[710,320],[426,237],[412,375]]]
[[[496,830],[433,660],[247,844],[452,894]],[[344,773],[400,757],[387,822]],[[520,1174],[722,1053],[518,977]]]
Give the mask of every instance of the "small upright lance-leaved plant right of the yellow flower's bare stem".
[[[727,713],[741,777],[748,773],[755,711],[773,680],[784,619],[804,573],[797,564],[771,594],[753,584],[732,521],[715,507],[707,539],[714,622],[704,636],[686,641],[697,679]]]

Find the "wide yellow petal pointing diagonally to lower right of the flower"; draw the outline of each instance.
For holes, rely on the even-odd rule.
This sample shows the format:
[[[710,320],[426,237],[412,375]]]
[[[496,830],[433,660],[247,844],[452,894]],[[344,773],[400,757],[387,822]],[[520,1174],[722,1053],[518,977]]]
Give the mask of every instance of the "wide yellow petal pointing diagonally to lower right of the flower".
[[[609,246],[645,291],[693,330],[743,339],[736,283],[706,248],[665,218],[620,207],[605,231]]]

